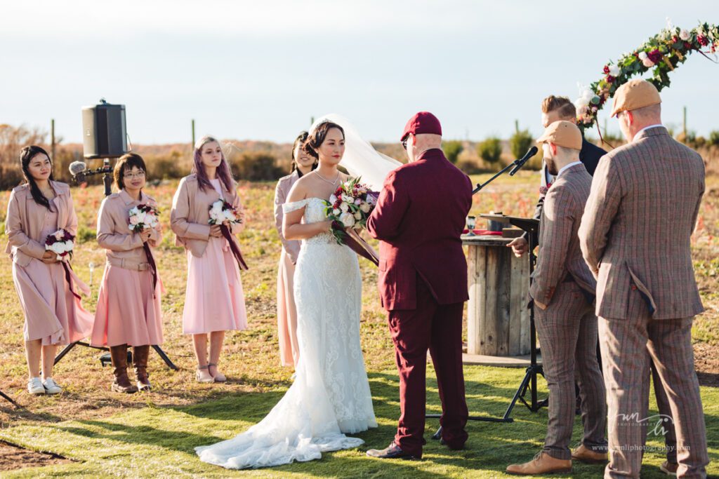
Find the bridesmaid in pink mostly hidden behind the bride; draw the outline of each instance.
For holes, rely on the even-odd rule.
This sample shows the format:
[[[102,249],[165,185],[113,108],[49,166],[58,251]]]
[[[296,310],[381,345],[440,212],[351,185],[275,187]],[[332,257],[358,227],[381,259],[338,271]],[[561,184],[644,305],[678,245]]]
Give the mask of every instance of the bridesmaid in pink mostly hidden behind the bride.
[[[275,188],[275,228],[282,241],[282,254],[277,273],[277,328],[282,366],[297,366],[300,358],[297,343],[297,310],[293,292],[293,276],[295,276],[297,256],[300,254],[300,241],[285,239],[282,233],[282,205],[287,201],[292,185],[317,167],[316,159],[303,148],[305,141],[307,141],[307,132],[303,131],[295,139],[292,147],[292,171],[290,175],[280,178]]]

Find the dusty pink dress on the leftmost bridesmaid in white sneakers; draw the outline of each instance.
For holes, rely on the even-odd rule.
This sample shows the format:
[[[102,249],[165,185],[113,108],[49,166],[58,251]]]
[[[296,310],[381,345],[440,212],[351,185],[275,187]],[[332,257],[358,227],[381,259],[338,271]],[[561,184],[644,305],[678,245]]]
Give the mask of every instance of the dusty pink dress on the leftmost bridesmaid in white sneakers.
[[[57,199],[50,201],[53,211],[45,215],[42,238],[58,231]],[[13,262],[12,278],[25,315],[26,341],[40,339],[44,346],[65,345],[90,335],[93,315],[70,292],[62,264],[45,264],[35,258],[27,266]],[[79,289],[73,284],[78,294]]]

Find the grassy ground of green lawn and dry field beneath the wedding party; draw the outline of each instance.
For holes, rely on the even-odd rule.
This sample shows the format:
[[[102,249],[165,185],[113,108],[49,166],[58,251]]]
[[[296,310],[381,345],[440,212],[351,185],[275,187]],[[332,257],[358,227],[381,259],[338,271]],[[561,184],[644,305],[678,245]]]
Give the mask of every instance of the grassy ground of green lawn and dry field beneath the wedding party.
[[[487,176],[474,178],[479,181]],[[279,366],[275,324],[275,281],[280,242],[273,228],[274,185],[243,183],[240,195],[247,214],[242,251],[250,269],[242,281],[249,315],[249,329],[227,336],[221,358],[230,381],[224,385],[198,384],[193,380],[195,361],[191,338],[181,332],[186,282],[186,257],[173,246],[168,228],[169,208],[176,182],[148,187],[162,208],[165,238],[157,251],[157,264],[167,293],[162,297],[165,344],[162,348],[180,366],[165,368],[154,353],[150,373],[154,389],[149,394],[120,395],[109,391],[111,371],[102,368],[99,353],[75,348],[55,369],[65,387],[60,396],[32,397],[24,390],[27,368],[22,345],[22,311],[12,286],[9,261],[0,268],[0,389],[13,396],[24,409],[0,401],[0,440],[30,450],[52,452],[73,462],[37,468],[0,470],[2,477],[503,477],[511,462],[523,462],[539,451],[546,432],[546,409],[531,413],[516,406],[511,424],[470,422],[470,441],[464,451],[449,451],[429,435],[437,427],[429,419],[429,444],[421,461],[383,462],[365,456],[371,447],[385,447],[394,434],[399,414],[398,378],[388,335],[385,312],[375,289],[376,271],[367,261],[362,267],[362,348],[365,353],[378,429],[357,434],[366,445],[357,450],[332,452],[322,460],[280,468],[228,471],[200,462],[193,447],[233,437],[267,414],[288,388],[292,371]],[[501,178],[475,196],[474,213],[489,210],[512,215],[531,215],[536,196],[536,177],[520,172]],[[6,210],[8,192],[0,193],[0,215]],[[75,271],[90,280],[93,297],[86,299],[94,310],[104,254],[93,241],[99,187],[73,189],[80,217],[81,244],[73,262]],[[710,475],[719,475],[719,179],[707,181],[700,228],[694,238],[697,280],[707,312],[697,317],[694,328],[697,370],[702,378]],[[1,219],[2,217],[0,217]],[[4,229],[4,228],[3,228]],[[3,243],[6,238],[1,238]],[[84,241],[83,241],[84,240]],[[472,414],[503,414],[521,381],[520,369],[466,366],[467,401]],[[428,412],[439,411],[434,373],[429,369]],[[540,387],[546,391],[544,381]],[[654,402],[652,398],[652,408]],[[577,419],[574,440],[580,438]],[[650,436],[642,477],[666,477],[659,472],[663,438]],[[574,465],[574,477],[598,477],[600,466]]]

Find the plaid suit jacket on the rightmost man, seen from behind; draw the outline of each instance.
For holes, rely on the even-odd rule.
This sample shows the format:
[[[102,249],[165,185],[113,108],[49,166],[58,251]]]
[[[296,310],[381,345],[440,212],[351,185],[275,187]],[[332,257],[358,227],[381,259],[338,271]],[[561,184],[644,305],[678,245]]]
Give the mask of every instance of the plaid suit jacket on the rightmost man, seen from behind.
[[[704,310],[690,250],[704,189],[702,157],[663,126],[603,157],[580,227],[597,316],[626,319],[633,301],[656,320]]]

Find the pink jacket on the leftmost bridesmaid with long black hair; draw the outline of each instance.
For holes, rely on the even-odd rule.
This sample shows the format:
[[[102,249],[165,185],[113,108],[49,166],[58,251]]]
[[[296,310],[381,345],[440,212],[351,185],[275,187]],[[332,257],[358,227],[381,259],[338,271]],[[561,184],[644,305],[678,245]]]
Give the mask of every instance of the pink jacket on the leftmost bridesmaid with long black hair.
[[[70,187],[66,183],[51,181],[52,189],[58,197],[58,228],[75,235],[78,232],[78,217],[73,208]],[[21,185],[10,193],[5,219],[5,234],[8,243],[5,252],[19,266],[27,266],[33,258],[41,259],[45,254],[45,238],[42,227],[47,208],[35,203],[30,195],[30,186]]]

